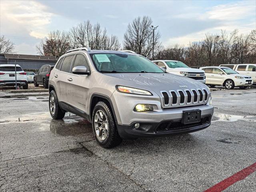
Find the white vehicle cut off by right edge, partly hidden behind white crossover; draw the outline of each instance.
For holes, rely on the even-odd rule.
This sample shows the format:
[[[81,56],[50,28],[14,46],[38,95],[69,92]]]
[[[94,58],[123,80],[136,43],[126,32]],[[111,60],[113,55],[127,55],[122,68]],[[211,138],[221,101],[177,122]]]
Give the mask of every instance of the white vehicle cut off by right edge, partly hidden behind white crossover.
[[[253,83],[256,84],[256,64],[222,64],[220,66],[229,67],[239,74],[251,76]]]

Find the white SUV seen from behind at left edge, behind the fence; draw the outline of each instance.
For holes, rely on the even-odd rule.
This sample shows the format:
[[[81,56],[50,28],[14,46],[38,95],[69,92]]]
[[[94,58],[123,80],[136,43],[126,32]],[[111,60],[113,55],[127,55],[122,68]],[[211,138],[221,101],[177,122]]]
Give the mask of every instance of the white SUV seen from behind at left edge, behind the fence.
[[[16,81],[18,86],[28,89],[28,77],[19,65],[16,65]],[[14,64],[0,64],[0,86],[15,86]]]

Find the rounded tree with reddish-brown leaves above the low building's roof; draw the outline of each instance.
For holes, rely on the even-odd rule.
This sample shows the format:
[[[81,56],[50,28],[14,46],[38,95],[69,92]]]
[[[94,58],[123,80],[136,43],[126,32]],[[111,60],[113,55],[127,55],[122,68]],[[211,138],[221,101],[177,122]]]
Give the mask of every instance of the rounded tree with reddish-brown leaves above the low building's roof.
[[[42,40],[40,45],[36,46],[38,53],[48,56],[62,56],[70,49],[70,43],[66,32],[59,30],[48,34],[46,40]]]

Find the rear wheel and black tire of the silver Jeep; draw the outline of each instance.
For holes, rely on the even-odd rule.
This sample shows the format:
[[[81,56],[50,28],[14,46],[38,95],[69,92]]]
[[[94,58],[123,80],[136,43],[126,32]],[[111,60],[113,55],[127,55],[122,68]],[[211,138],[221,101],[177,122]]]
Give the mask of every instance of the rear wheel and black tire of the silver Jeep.
[[[61,110],[54,90],[52,90],[49,95],[49,110],[53,119],[63,119],[66,114]]]

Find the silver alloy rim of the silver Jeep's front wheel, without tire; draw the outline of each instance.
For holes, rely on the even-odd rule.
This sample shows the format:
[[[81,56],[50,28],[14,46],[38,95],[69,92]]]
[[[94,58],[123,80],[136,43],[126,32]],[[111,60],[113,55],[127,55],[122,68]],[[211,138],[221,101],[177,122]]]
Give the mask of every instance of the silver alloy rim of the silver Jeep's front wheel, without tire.
[[[94,116],[94,129],[96,137],[100,141],[104,141],[108,136],[108,120],[106,114],[102,110],[98,110]]]

